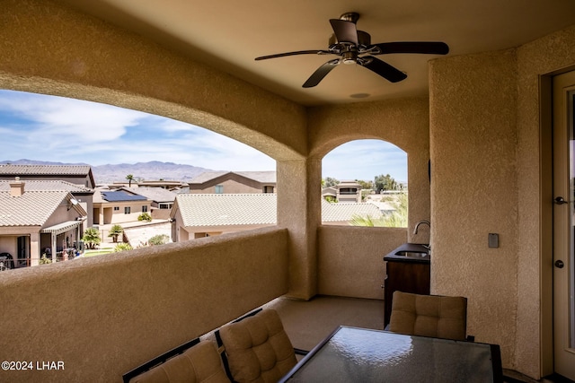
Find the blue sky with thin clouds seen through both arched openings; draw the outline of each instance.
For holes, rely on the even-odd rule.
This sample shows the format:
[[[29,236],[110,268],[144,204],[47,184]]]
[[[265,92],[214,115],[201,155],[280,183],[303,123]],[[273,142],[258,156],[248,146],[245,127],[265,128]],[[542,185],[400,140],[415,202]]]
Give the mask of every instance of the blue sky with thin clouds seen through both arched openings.
[[[0,161],[90,165],[175,162],[211,170],[276,170],[266,154],[199,126],[135,110],[22,91],[0,90]],[[393,144],[358,140],[323,159],[323,177],[407,179],[407,155]]]

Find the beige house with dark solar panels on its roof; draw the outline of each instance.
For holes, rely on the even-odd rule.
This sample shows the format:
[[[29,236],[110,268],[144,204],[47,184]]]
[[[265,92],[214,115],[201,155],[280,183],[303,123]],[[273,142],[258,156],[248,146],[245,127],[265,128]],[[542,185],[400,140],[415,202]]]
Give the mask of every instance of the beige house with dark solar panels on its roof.
[[[152,201],[128,188],[111,190],[97,187],[93,196],[95,225],[137,222],[141,213],[150,213]]]

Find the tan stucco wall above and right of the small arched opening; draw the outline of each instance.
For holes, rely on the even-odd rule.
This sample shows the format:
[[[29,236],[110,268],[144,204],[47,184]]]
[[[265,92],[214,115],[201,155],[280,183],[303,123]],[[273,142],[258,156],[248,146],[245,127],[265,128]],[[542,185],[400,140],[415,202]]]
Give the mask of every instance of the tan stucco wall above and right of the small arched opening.
[[[408,239],[429,243],[429,231],[412,234],[416,222],[429,219],[428,98],[313,108],[309,110],[308,135],[312,158],[321,159],[341,144],[366,138],[385,140],[407,152]],[[385,173],[385,165],[382,173]]]

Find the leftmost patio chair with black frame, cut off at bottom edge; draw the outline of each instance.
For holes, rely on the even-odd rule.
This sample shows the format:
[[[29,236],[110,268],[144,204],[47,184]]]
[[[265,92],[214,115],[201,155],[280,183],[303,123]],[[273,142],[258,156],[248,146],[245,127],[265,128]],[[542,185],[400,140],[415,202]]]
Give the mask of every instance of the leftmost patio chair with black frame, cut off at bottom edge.
[[[124,383],[229,383],[216,344],[199,338],[147,361],[122,376]]]

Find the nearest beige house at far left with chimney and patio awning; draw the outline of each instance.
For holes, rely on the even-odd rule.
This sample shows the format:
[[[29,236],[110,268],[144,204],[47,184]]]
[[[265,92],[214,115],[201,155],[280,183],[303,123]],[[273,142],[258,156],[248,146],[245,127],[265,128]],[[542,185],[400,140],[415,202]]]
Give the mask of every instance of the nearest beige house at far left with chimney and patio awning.
[[[69,191],[39,183],[13,180],[6,189],[0,182],[0,253],[9,253],[15,268],[39,265],[42,255],[67,259],[63,250],[77,248],[82,237],[82,206]]]

